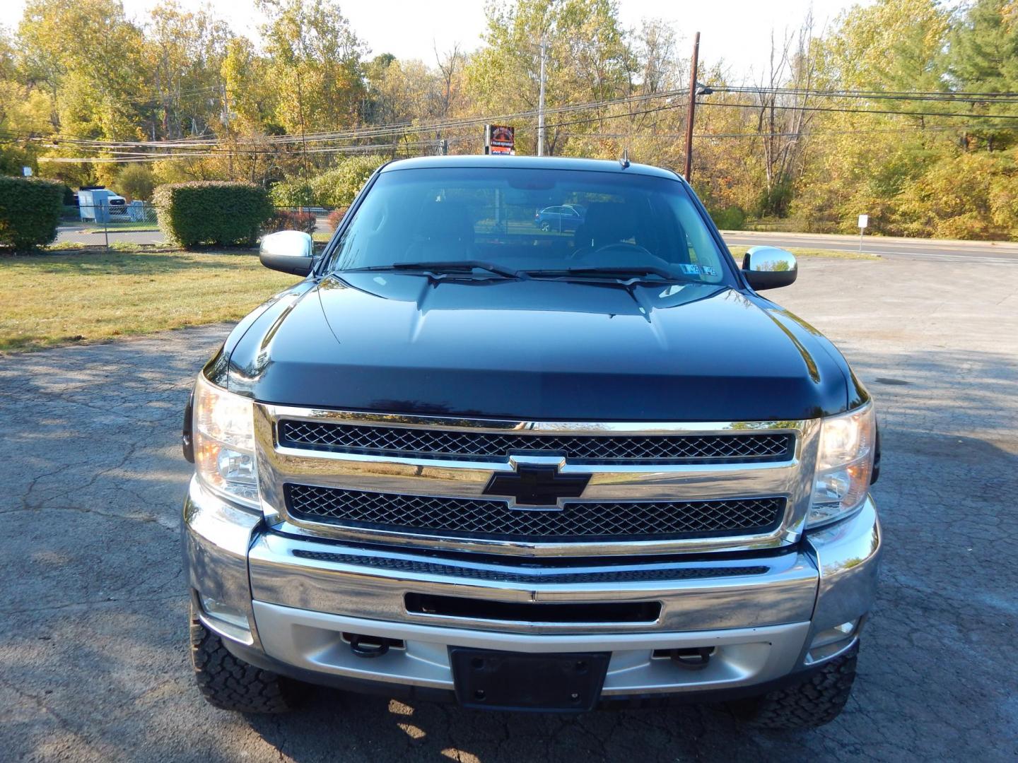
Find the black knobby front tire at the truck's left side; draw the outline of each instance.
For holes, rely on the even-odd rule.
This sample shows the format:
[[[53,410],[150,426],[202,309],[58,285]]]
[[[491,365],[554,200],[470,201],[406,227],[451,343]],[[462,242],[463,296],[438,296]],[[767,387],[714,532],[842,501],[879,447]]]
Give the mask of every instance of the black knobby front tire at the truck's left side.
[[[223,640],[202,625],[193,606],[190,647],[194,681],[211,705],[241,713],[282,713],[296,704],[293,682],[230,654]]]

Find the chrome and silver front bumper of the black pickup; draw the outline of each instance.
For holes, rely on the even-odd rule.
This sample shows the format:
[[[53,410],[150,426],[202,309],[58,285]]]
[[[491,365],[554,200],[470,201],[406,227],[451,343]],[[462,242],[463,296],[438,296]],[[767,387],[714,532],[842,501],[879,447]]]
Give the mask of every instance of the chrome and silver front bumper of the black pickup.
[[[874,595],[880,542],[868,500],[851,519],[776,551],[564,565],[284,535],[196,481],[184,506],[184,555],[200,617],[238,657],[305,681],[370,682],[394,693],[448,693],[450,646],[610,651],[606,699],[768,686],[854,647]],[[477,608],[414,609],[407,594],[466,599]],[[204,600],[238,617],[217,618],[202,609]],[[541,619],[495,619],[486,608],[608,602],[660,602],[660,614],[534,622]],[[832,642],[831,629],[844,624],[851,625]],[[394,648],[365,659],[351,650],[350,634],[388,639]],[[686,648],[712,649],[709,664],[690,670],[658,656]]]

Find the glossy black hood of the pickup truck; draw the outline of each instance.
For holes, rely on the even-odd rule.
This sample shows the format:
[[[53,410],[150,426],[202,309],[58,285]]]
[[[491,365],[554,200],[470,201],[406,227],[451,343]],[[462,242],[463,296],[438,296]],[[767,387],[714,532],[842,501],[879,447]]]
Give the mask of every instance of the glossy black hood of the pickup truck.
[[[419,415],[569,421],[799,419],[865,393],[818,332],[709,285],[326,277],[227,343],[257,400]]]

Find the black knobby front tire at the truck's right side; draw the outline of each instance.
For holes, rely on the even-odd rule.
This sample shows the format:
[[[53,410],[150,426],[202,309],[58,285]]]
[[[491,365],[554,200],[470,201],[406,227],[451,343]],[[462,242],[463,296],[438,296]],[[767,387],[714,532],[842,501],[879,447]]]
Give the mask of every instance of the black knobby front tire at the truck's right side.
[[[812,728],[830,723],[848,702],[858,649],[815,669],[806,681],[730,704],[735,716],[757,728]]]

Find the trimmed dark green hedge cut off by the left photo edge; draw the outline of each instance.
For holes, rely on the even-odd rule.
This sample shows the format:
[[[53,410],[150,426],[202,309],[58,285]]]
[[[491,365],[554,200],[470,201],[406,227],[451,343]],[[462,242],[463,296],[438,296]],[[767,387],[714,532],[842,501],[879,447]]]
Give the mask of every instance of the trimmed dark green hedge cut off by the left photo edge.
[[[0,245],[29,251],[56,239],[63,190],[51,180],[0,176]]]

